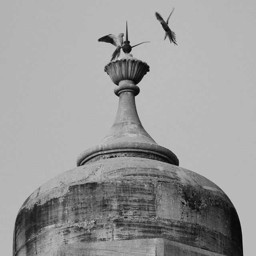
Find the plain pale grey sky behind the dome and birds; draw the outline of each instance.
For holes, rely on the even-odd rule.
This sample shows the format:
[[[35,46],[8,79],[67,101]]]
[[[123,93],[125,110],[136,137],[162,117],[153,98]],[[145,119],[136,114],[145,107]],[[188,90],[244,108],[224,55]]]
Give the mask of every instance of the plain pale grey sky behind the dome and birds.
[[[178,46],[154,13],[169,20]],[[150,66],[136,106],[145,130],[180,166],[216,183],[240,218],[244,255],[256,229],[255,1],[0,1],[0,243],[12,254],[26,198],[76,167],[114,122],[116,85],[104,72],[125,32]]]

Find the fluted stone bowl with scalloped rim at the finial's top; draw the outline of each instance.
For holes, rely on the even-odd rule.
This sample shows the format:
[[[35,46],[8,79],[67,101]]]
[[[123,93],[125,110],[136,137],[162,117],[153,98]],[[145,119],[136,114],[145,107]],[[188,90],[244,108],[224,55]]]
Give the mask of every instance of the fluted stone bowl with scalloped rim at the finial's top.
[[[132,80],[134,84],[138,84],[149,72],[149,66],[146,62],[133,58],[132,54],[125,54],[124,58],[109,62],[104,71],[116,85],[122,80]]]

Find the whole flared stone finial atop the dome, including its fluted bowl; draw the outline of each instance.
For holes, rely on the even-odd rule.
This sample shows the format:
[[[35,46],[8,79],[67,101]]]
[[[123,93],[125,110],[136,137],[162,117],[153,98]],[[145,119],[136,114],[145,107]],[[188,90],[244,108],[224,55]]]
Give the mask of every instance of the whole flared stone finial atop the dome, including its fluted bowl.
[[[82,152],[77,165],[108,158],[139,157],[178,165],[179,160],[167,148],[158,145],[144,130],[136,110],[135,96],[140,92],[138,84],[149,71],[146,62],[125,54],[124,58],[109,62],[105,72],[114,84],[114,93],[119,97],[116,119],[110,132],[97,146]]]

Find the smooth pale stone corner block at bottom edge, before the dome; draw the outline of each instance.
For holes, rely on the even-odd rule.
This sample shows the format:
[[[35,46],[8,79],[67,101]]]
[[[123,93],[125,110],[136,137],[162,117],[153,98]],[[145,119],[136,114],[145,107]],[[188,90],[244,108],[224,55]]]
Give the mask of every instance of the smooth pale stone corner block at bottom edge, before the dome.
[[[104,248],[102,250],[102,248]],[[54,252],[54,256],[223,256],[204,249],[188,246],[163,238],[119,240],[94,243],[64,244]]]

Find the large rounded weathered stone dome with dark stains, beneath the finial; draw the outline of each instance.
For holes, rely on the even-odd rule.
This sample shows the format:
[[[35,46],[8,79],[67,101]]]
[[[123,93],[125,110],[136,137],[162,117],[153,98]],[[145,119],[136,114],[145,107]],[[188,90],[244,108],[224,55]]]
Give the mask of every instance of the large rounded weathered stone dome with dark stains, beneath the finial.
[[[120,247],[146,255],[136,243],[161,238],[158,256],[241,256],[241,236],[234,206],[210,180],[156,160],[110,158],[32,193],[17,216],[14,255],[117,255]],[[110,253],[112,244],[119,249]],[[154,244],[147,255],[156,255]]]

